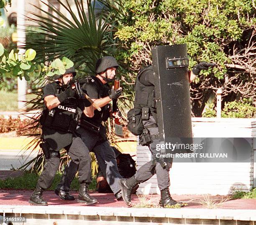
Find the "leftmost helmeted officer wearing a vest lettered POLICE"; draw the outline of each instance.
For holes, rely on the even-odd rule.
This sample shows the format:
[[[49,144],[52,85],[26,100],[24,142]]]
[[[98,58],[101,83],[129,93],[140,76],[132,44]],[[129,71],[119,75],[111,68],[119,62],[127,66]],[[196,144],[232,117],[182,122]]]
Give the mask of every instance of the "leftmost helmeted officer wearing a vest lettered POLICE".
[[[42,125],[41,145],[46,163],[38,178],[36,189],[29,198],[32,205],[47,205],[42,197],[43,190],[50,188],[60,164],[59,150],[65,148],[72,162],[79,168],[78,201],[87,205],[97,203],[88,194],[88,184],[91,183],[91,158],[81,138],[74,134],[79,113],[92,117],[94,109],[86,99],[78,99],[74,87],[68,87],[68,82],[76,75],[74,67],[67,69],[64,75],[54,75],[54,82],[47,84],[43,90],[44,110],[40,117]],[[78,106],[82,110],[78,109]],[[64,200],[74,200],[65,190],[55,190]]]

